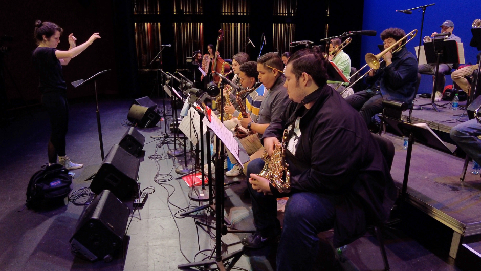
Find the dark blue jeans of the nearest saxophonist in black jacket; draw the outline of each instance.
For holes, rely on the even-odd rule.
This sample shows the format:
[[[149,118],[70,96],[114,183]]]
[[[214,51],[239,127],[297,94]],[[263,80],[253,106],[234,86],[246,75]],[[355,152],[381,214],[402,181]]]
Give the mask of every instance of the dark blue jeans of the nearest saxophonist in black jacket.
[[[247,171],[258,173],[263,166],[264,161],[256,159],[249,163]],[[273,214],[277,213],[275,197],[256,192],[250,184],[249,192],[257,230],[260,230],[259,225],[275,226],[272,221]],[[264,202],[269,202],[269,207],[259,206]],[[277,270],[311,270],[319,251],[317,234],[333,228],[334,216],[334,200],[329,196],[310,192],[290,195],[277,248]]]

